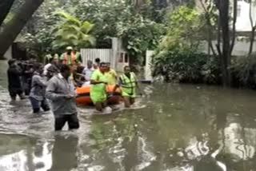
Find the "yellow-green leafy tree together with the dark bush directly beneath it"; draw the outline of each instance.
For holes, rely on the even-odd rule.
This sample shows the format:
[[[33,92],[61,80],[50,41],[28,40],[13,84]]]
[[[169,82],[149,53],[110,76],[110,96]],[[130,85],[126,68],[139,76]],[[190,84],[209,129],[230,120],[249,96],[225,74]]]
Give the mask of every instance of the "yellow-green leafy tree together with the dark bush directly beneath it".
[[[153,58],[154,76],[167,82],[218,82],[218,62],[199,51],[203,21],[198,12],[179,6],[166,15],[166,36]]]

